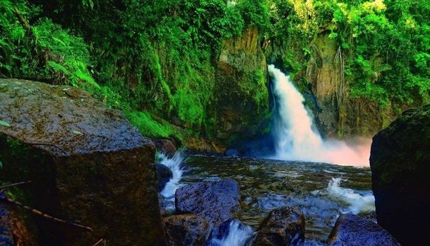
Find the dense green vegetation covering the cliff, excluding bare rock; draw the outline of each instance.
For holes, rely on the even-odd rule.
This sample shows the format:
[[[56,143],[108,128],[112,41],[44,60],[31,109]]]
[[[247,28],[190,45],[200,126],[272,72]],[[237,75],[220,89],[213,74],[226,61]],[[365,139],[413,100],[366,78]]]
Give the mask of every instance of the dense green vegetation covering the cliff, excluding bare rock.
[[[262,46],[286,47],[296,81],[306,83],[310,43],[326,32],[344,53],[351,100],[394,111],[430,102],[428,0],[0,0],[0,13],[0,77],[84,88],[150,137],[181,136],[169,121],[211,136],[222,41],[250,25]],[[257,105],[255,90],[267,94],[241,86]]]

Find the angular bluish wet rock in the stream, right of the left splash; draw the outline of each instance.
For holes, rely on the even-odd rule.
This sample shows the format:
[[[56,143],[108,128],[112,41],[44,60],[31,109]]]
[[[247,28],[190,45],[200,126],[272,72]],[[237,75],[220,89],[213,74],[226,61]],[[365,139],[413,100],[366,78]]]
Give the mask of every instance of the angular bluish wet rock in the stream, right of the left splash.
[[[212,226],[239,212],[239,184],[234,180],[185,185],[175,193],[176,212],[203,216]]]

